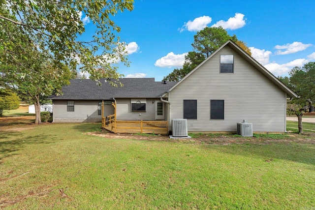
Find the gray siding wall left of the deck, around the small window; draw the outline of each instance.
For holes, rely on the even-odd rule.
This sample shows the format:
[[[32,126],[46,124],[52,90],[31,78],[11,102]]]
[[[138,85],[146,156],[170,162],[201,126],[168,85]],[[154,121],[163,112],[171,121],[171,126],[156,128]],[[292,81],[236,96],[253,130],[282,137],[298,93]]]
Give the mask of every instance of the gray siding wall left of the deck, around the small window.
[[[67,100],[54,100],[54,122],[100,122],[98,102],[101,100],[74,100],[74,112],[67,112]],[[112,105],[104,105],[104,116],[114,114]]]

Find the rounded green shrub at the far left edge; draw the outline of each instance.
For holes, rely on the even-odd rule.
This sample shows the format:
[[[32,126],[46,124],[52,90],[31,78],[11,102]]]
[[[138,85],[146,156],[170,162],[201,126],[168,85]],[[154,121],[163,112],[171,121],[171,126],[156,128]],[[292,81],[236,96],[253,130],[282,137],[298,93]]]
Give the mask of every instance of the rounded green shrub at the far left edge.
[[[11,90],[0,89],[0,117],[2,117],[4,110],[18,109],[19,107],[19,96]]]

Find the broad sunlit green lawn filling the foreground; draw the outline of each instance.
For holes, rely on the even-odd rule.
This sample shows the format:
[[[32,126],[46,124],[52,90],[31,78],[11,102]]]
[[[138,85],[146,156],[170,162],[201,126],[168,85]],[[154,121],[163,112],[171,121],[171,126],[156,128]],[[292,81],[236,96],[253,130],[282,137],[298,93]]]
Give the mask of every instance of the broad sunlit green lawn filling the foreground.
[[[0,208],[315,207],[314,143],[203,145],[84,134],[100,123],[24,126],[0,127]]]

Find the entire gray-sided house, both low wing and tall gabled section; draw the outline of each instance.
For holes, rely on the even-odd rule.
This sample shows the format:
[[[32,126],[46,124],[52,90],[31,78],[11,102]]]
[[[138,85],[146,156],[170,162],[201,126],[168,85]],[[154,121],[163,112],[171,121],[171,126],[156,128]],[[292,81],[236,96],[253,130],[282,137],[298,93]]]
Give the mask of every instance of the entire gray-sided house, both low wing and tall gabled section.
[[[63,95],[53,95],[54,122],[187,119],[189,132],[236,132],[237,122],[252,123],[253,132],[286,131],[286,99],[298,97],[272,73],[227,41],[178,83],[154,78],[122,78],[122,88],[105,80],[71,80]]]

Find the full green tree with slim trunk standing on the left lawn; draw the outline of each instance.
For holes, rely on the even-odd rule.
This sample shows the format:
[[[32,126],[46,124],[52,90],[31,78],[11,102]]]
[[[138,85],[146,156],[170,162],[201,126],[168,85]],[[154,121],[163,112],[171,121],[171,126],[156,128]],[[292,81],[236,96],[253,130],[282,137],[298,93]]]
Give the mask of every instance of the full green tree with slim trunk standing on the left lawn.
[[[1,86],[14,90],[35,106],[35,123],[40,123],[40,101],[69,82],[67,66],[55,60],[49,51],[41,50],[29,34],[14,23],[2,26],[9,33],[0,32],[5,45],[0,49]],[[14,46],[14,49],[12,48]]]

